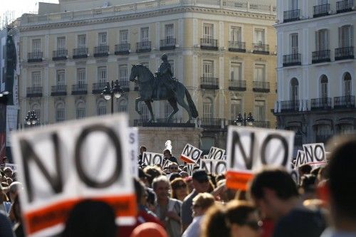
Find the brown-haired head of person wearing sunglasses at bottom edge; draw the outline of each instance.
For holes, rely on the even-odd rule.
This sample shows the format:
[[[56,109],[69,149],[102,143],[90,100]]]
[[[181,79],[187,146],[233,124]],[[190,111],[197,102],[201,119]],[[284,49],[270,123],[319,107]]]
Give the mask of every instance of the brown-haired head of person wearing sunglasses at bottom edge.
[[[261,236],[261,222],[256,208],[246,201],[230,201],[226,205],[226,222],[231,237]]]

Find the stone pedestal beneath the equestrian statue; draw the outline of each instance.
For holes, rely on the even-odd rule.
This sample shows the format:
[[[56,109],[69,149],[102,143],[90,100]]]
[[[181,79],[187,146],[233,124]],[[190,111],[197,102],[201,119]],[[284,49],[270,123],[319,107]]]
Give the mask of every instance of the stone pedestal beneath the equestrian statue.
[[[163,153],[164,143],[171,140],[172,155],[181,162],[179,157],[187,143],[199,147],[202,131],[198,127],[139,127],[139,147],[144,145],[147,152]]]

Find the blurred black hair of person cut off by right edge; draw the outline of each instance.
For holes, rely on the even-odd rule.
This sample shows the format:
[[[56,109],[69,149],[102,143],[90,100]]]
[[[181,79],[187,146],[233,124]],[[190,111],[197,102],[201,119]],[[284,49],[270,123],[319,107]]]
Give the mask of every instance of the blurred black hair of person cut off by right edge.
[[[330,196],[337,217],[356,220],[356,136],[335,147],[329,162]]]

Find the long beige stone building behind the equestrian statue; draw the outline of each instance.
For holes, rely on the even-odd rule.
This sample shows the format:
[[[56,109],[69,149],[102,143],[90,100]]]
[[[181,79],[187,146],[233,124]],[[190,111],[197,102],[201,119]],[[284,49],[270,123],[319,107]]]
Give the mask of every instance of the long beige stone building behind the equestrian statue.
[[[224,147],[226,127],[239,112],[252,112],[258,127],[276,127],[276,1],[59,0],[40,4],[40,14],[21,17],[20,118],[35,110],[42,123],[110,113],[100,95],[119,80],[125,93],[114,112],[130,125],[149,118],[135,112],[132,64],[152,72],[166,53],[174,76],[188,88],[203,127],[202,149]],[[167,117],[167,102],[153,103]],[[179,107],[174,120],[187,120]]]

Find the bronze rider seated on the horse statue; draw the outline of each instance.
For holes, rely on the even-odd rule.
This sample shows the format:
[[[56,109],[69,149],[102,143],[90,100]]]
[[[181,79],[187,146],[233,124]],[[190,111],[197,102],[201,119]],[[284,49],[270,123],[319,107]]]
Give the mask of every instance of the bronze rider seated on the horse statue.
[[[171,90],[172,93],[174,93],[174,79],[173,79],[173,73],[171,70],[171,65],[168,62],[168,57],[166,54],[163,54],[162,57],[162,63],[159,66],[159,68],[157,69],[157,79],[159,80],[158,83],[158,88],[157,88],[157,99],[159,99],[159,94],[160,94],[160,90],[161,90],[161,86],[160,85],[164,85],[167,90]],[[169,92],[170,93],[170,92]]]

